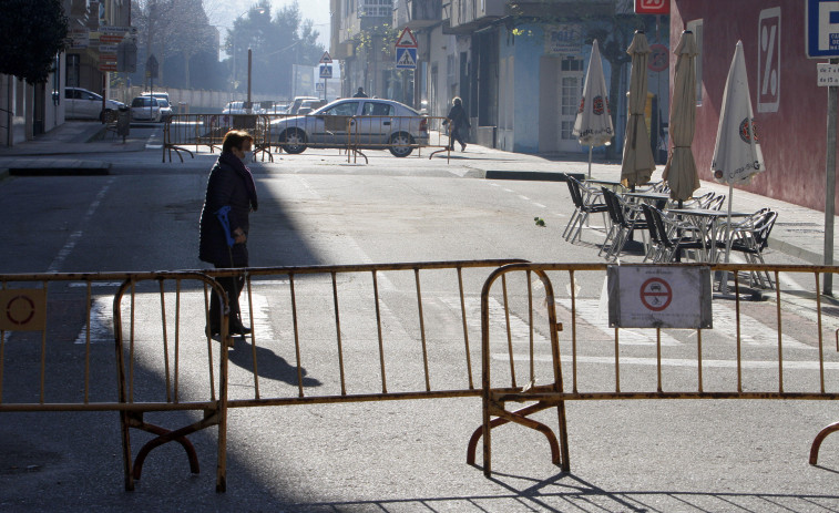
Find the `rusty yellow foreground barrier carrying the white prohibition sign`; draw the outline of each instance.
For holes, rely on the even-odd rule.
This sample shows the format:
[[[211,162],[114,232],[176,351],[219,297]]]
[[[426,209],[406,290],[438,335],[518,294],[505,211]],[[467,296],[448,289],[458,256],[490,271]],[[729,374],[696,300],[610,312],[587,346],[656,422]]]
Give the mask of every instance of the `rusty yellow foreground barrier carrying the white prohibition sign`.
[[[511,264],[497,269],[487,279],[481,293],[483,422],[472,434],[467,451],[468,462],[473,464],[478,442],[483,438],[485,475],[491,475],[492,471],[492,429],[510,422],[543,433],[553,463],[563,471],[570,471],[565,414],[565,401],[569,400],[839,399],[839,350],[833,353],[825,345],[825,337],[829,340],[835,332],[833,326],[826,325],[839,324],[839,317],[825,311],[819,293],[820,277],[839,273],[839,267],[713,266],[710,269],[714,271],[734,275],[734,296],[727,298],[733,300],[723,301],[723,297],[718,296],[713,302],[714,309],[719,310],[716,314],[723,316],[725,321],[709,330],[649,329],[649,338],[655,334],[655,343],[646,346],[649,349],[641,357],[638,353],[643,351],[631,352],[627,350],[630,346],[620,345],[622,334],[637,337],[637,330],[614,328],[612,340],[602,340],[602,337],[608,337],[608,330],[603,330],[603,327],[598,330],[591,321],[584,325],[581,319],[581,309],[586,307],[581,307],[581,298],[576,294],[577,280],[586,274],[590,279],[594,274],[595,281],[603,279],[607,267],[607,264]],[[745,279],[750,273],[774,274],[778,286],[770,296],[761,296],[763,293],[741,285],[740,275]],[[812,288],[794,290],[795,294],[782,297],[780,274],[811,276]],[[492,346],[503,343],[504,338],[503,334],[493,338],[492,328],[504,325],[503,320],[495,322],[493,319],[493,286],[501,281],[505,299],[503,315],[509,315],[508,284],[514,278],[521,281],[522,291],[516,296],[518,305],[511,308],[518,308],[529,319],[529,334],[524,336],[528,338],[519,340],[528,345],[523,355],[514,353],[509,328],[507,351],[493,350]],[[561,289],[567,294],[557,294],[553,281],[565,285]],[[534,291],[542,297],[534,298]],[[785,301],[796,302],[784,311]],[[733,302],[733,307],[726,302]],[[542,311],[538,311],[539,319],[534,319],[534,304],[542,305]],[[835,311],[835,307],[828,311]],[[501,314],[495,312],[495,317],[498,315]],[[560,319],[567,319],[571,324],[570,336],[560,337]],[[785,331],[785,320],[795,328]],[[774,325],[777,338],[763,340],[758,346],[751,338],[757,337],[755,334],[761,331],[759,327],[766,325]],[[584,335],[581,336],[581,332]],[[586,340],[584,346],[580,343],[581,337]],[[687,343],[664,345],[663,338],[668,337],[683,339]],[[596,355],[591,353],[594,346],[591,338],[601,339],[596,342]],[[744,339],[749,343],[744,343]],[[726,359],[707,358],[712,349],[715,355],[725,355]],[[756,356],[760,360],[751,359]],[[501,365],[493,366],[493,360],[497,363],[500,360]],[[633,366],[634,372],[630,378],[622,378],[622,370],[627,366]],[[649,371],[640,372],[640,368]],[[571,376],[567,376],[569,371]],[[523,380],[525,384],[522,384],[522,375],[526,377]],[[536,383],[536,376],[541,378],[540,383]],[[505,408],[508,402],[530,404],[511,411]],[[556,408],[559,440],[551,428],[530,418],[535,412],[552,408]],[[823,428],[816,435],[810,450],[810,464],[816,464],[821,442],[835,431],[839,431],[839,422]]]

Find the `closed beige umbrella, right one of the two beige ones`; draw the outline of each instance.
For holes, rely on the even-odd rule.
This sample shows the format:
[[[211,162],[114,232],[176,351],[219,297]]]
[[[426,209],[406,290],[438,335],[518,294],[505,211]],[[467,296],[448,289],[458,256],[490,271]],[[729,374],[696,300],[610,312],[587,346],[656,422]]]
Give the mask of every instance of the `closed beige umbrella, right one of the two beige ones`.
[[[671,104],[673,152],[664,166],[663,178],[671,188],[671,198],[689,199],[699,188],[699,175],[690,145],[696,131],[696,39],[689,30],[682,32],[676,50],[676,73]]]

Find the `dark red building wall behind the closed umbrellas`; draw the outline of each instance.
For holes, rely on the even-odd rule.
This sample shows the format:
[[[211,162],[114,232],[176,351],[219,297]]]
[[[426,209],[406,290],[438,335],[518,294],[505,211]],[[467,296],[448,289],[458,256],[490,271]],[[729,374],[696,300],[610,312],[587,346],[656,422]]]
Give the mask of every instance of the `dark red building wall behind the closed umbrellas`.
[[[765,21],[759,27],[761,12]],[[816,63],[827,61],[807,59],[805,54],[805,2],[672,0],[671,48],[676,48],[687,22],[697,19],[703,20],[704,32],[703,95],[702,105],[696,109],[693,144],[699,177],[713,179],[710,161],[723,92],[735,45],[741,40],[751,107],[767,168],[741,188],[823,212],[828,88],[816,85]],[[777,25],[779,65],[777,59],[768,59],[770,49],[777,48],[768,44],[771,25]],[[759,37],[765,39],[761,41]],[[764,62],[758,62],[759,59]],[[671,84],[675,63],[676,57],[672,54]],[[774,107],[768,105],[765,110],[770,112],[759,112],[758,96],[767,104],[777,101],[777,111],[771,112]]]

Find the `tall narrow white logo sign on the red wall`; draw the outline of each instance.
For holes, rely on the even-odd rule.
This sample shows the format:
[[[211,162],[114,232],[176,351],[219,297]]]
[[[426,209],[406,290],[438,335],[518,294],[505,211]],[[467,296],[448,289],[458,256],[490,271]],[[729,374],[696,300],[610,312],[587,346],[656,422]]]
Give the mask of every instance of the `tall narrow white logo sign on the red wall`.
[[[780,104],[780,8],[760,11],[757,30],[757,112],[778,112]]]

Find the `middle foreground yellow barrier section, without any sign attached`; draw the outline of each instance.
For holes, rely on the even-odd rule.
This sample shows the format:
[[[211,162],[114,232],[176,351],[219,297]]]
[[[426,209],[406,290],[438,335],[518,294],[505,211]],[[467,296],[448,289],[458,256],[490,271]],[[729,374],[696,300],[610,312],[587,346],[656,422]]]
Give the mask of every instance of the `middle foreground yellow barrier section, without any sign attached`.
[[[264,334],[254,326],[250,347],[244,348],[249,349],[249,360],[246,362],[248,370],[245,375],[236,377],[241,386],[236,392],[232,392],[234,394],[228,399],[228,408],[478,397],[480,389],[474,383],[472,359],[479,357],[477,346],[470,345],[464,301],[468,297],[477,299],[477,290],[489,270],[513,261],[523,260],[245,269],[246,284],[243,297],[248,307],[243,315],[247,312],[248,317],[254,319],[255,314],[258,314],[254,310],[257,302],[254,297],[256,288],[268,287],[273,293],[280,288],[286,299],[282,302],[280,312],[272,312],[270,317],[277,322],[283,322],[288,335],[278,337],[275,334]],[[469,271],[472,274],[467,275]],[[206,273],[214,278],[238,274],[236,270],[225,269],[212,269]],[[474,285],[471,294],[464,286],[464,275],[465,280]],[[432,328],[426,324],[428,305],[422,295],[422,281],[432,278],[438,280],[438,294],[441,288],[448,290],[447,301],[459,310],[459,319],[456,322],[460,325],[457,331],[462,330],[462,338],[456,342],[446,342],[447,350],[451,350],[457,358],[462,358],[457,362],[457,371],[441,369],[434,372],[429,361],[429,352],[440,350],[439,345],[442,343],[432,338]],[[401,280],[405,288],[412,290],[409,295],[401,293],[405,288],[397,291],[395,286],[390,285],[391,280]],[[386,308],[383,295],[405,305],[409,311],[412,309],[413,314],[397,315]],[[276,302],[278,299],[273,301]],[[369,317],[348,317],[340,308],[344,301],[354,305],[356,309],[359,304],[365,305],[362,312]],[[329,322],[325,322],[329,318],[332,319],[331,327]],[[472,320],[472,326],[477,327],[478,319]],[[405,340],[400,340],[398,345],[395,345],[395,341],[389,343],[388,334],[382,328],[383,322],[398,324]],[[352,331],[348,326],[364,326],[360,328],[364,331],[364,336],[359,338],[361,341],[351,341],[351,353],[348,353],[346,348],[348,334]],[[276,340],[277,338],[280,340]],[[326,346],[328,349],[324,349],[323,343],[329,339],[331,342]],[[277,345],[294,355],[295,379],[288,382],[277,383],[259,379],[259,369],[263,367],[260,353],[264,352],[260,349],[280,347]],[[323,350],[324,355],[314,356],[311,351],[316,347]],[[393,360],[399,361],[402,368],[412,369],[413,372],[391,375],[388,371],[388,362]],[[409,361],[411,365],[408,365]],[[319,378],[323,380],[319,381],[319,386],[307,386],[307,382],[314,379],[313,376],[323,376]],[[371,376],[376,376],[377,379],[374,380]],[[249,382],[249,392],[246,392],[248,387],[244,384],[245,380]]]

